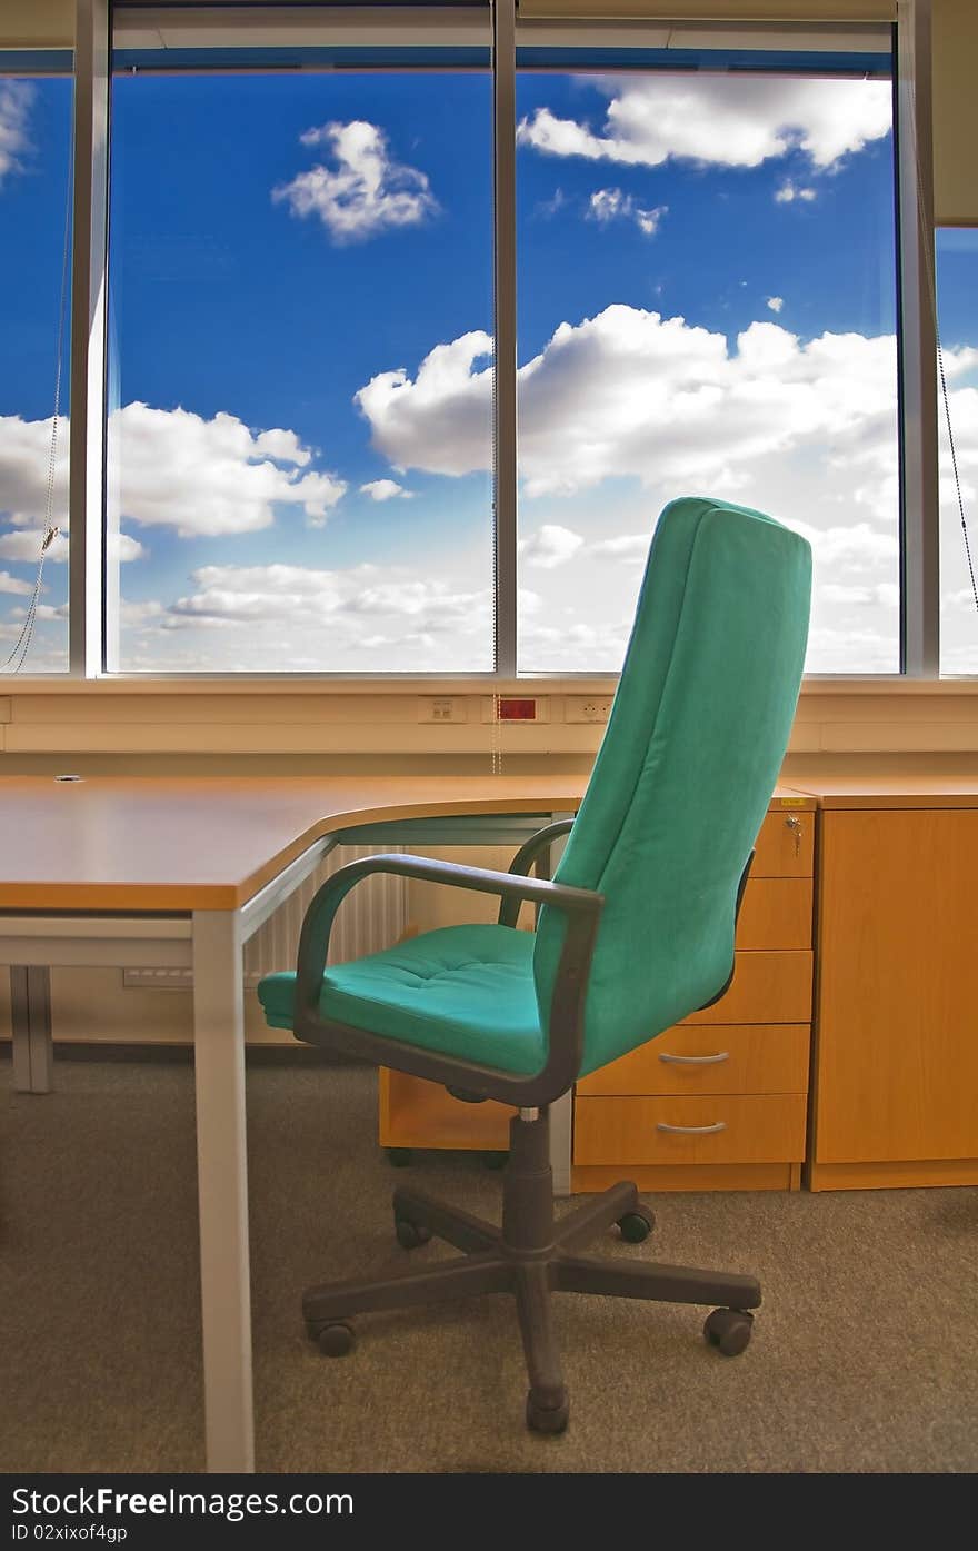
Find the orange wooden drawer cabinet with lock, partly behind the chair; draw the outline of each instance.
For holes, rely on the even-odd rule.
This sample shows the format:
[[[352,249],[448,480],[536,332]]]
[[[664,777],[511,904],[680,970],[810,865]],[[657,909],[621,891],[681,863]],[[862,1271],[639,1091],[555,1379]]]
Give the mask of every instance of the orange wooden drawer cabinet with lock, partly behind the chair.
[[[777,794],[761,825],[713,1007],[577,1084],[575,1191],[797,1190],[812,1011],[814,799]]]

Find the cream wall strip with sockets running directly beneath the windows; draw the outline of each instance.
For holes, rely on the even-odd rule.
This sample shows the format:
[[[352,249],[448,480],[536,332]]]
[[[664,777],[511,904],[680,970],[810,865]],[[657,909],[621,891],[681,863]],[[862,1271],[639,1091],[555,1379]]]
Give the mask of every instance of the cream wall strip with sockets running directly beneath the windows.
[[[521,679],[501,693],[538,696],[549,720],[499,729],[504,760],[567,760],[587,768],[600,724],[567,720],[575,703],[609,698],[614,679]],[[453,723],[431,721],[434,698]],[[316,769],[488,769],[490,686],[471,679],[147,681],[0,684],[0,774],[197,771],[282,774]],[[978,751],[978,679],[899,682],[809,679],[789,752],[935,754]],[[432,763],[434,762],[434,763]],[[448,762],[448,766],[443,766]],[[573,763],[577,762],[577,763]]]

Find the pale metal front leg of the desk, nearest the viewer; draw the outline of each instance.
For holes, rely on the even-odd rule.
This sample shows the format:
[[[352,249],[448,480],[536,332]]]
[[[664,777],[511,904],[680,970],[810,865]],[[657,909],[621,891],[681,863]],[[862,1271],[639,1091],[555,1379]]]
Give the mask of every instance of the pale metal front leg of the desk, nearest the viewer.
[[[197,1194],[208,1470],[254,1470],[242,923],[194,912]]]

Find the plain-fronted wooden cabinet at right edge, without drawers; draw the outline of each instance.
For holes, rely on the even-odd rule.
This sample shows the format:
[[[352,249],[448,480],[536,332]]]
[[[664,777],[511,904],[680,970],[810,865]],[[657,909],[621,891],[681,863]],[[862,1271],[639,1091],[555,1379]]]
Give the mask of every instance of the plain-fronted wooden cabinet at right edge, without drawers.
[[[978,1183],[978,782],[823,803],[812,1190]]]

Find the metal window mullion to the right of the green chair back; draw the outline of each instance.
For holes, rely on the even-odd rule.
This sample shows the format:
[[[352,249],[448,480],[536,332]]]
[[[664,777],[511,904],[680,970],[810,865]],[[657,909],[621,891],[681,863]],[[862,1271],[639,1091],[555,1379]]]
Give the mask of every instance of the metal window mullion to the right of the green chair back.
[[[899,0],[902,670],[927,679],[941,672],[930,20],[930,0]]]

